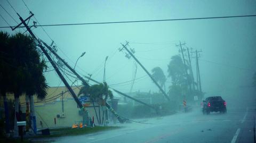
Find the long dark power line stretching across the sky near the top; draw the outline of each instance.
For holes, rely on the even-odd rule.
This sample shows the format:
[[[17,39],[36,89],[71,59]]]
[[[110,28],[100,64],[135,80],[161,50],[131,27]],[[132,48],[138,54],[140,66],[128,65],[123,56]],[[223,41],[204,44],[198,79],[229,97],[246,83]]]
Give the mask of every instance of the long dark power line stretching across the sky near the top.
[[[7,1],[7,0],[6,0]],[[204,20],[204,19],[225,19],[225,18],[243,18],[253,17],[256,15],[237,15],[237,16],[216,16],[205,18],[184,18],[184,19],[162,19],[162,20],[138,20],[138,21],[116,21],[116,22],[92,22],[92,23],[70,23],[70,24],[44,24],[38,25],[38,27],[50,27],[50,26],[78,26],[78,25],[90,25],[90,24],[116,24],[116,23],[138,23],[138,22],[161,22],[161,21],[181,21],[181,20]],[[20,26],[24,27],[24,26]],[[9,28],[9,27],[0,27]],[[14,28],[14,27],[13,27]]]

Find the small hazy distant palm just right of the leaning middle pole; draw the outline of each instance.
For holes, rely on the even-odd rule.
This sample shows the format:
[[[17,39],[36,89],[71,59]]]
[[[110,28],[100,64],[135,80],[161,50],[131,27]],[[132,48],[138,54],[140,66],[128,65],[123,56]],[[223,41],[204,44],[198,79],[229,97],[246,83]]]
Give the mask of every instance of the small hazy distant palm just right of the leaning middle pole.
[[[156,82],[160,83],[161,88],[164,86],[164,90],[165,90],[166,77],[164,75],[163,70],[157,66],[151,71],[153,72],[152,77],[156,80]]]

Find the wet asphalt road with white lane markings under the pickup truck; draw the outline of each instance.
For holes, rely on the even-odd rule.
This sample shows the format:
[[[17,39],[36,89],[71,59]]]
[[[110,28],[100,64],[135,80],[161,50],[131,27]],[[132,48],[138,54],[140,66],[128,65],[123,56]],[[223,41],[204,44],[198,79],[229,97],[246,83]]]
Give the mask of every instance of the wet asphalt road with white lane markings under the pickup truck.
[[[189,113],[126,123],[124,128],[83,136],[55,138],[54,142],[253,142],[255,99],[226,100],[227,114],[203,115],[200,108]],[[237,106],[237,102],[247,102]]]

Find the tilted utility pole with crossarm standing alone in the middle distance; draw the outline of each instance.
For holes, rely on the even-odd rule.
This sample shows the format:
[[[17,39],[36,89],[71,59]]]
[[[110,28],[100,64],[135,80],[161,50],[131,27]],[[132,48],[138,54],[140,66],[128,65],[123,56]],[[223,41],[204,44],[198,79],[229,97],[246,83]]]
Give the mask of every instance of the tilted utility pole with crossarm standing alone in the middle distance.
[[[127,49],[127,45],[129,44],[129,42],[126,41],[126,44],[123,45],[121,43],[121,45],[123,46],[124,49],[126,49],[126,51],[134,58],[134,60],[141,66],[141,68],[148,74],[148,76],[151,78],[151,80],[153,80],[153,82],[155,83],[155,85],[161,90],[161,92],[164,94],[164,96],[167,98],[167,100],[170,101],[169,96],[165,93],[165,91],[161,88],[161,86],[158,85],[158,83],[156,82],[156,80],[151,76],[151,74],[147,71],[147,69],[140,63],[140,61],[133,55],[133,53],[131,51],[129,51],[129,49]],[[120,51],[123,50],[120,49]]]

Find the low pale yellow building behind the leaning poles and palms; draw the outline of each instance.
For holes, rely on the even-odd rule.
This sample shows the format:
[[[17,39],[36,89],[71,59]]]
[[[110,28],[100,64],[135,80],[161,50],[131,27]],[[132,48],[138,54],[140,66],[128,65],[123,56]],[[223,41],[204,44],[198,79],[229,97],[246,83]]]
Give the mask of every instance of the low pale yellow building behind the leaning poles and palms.
[[[80,87],[73,86],[71,88],[77,95]],[[14,96],[7,95],[7,98],[14,99]],[[50,87],[47,89],[46,98],[44,100],[39,100],[35,96],[34,103],[37,129],[71,127],[74,123],[81,123],[83,120],[82,115],[79,115],[80,109],[78,108],[77,103],[66,87]],[[26,96],[20,97],[20,105],[21,111],[26,113]],[[85,106],[85,110],[89,112],[91,119],[94,117],[94,123],[99,124],[91,102],[86,102],[83,105]],[[99,105],[97,102],[95,102],[94,105],[99,116]],[[100,107],[101,119],[102,110],[103,107]]]

